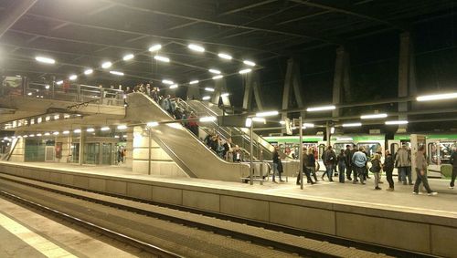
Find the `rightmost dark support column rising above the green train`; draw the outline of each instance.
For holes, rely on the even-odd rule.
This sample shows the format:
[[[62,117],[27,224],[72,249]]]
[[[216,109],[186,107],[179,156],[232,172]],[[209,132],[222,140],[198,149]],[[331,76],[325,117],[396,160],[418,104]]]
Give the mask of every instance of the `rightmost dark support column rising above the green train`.
[[[410,33],[404,32],[399,37],[399,98],[403,98],[416,93],[416,73]],[[399,112],[407,111],[409,111],[409,104],[399,103]],[[408,116],[400,115],[399,119],[406,120]],[[397,132],[406,132],[407,129],[408,125],[399,125]]]

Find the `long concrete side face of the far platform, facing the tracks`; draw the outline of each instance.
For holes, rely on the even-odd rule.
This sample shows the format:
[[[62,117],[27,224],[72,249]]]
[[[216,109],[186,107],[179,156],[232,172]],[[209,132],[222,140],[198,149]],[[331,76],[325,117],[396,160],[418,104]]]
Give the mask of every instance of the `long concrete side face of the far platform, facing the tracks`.
[[[420,253],[455,257],[455,215],[429,215],[353,206],[324,200],[210,188],[185,182],[142,181],[0,162],[0,172],[119,194],[147,201],[218,212],[295,229],[377,243]]]

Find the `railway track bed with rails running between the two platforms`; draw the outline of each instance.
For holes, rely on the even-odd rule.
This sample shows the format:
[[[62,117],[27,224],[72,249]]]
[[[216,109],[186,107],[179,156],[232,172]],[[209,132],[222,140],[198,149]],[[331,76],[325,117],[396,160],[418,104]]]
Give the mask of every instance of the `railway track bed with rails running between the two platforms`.
[[[184,246],[182,240],[181,242],[175,241],[175,243],[164,239],[160,241],[155,240],[154,242],[151,241],[151,237],[148,237],[146,227],[143,228],[143,231],[141,227],[139,229],[133,229],[133,222],[138,221],[130,221],[131,226],[116,227],[116,224],[122,225],[125,222],[128,225],[128,221],[122,221],[122,216],[142,216],[140,221],[160,220],[166,223],[173,223],[176,226],[185,227],[186,229],[190,228],[195,231],[209,233],[211,234],[210,238],[225,238],[220,240],[221,242],[226,242],[229,239],[230,241],[237,242],[232,243],[235,245],[239,243],[248,244],[244,247],[252,247],[252,249],[254,247],[260,248],[262,255],[259,256],[262,257],[269,256],[266,253],[274,253],[273,257],[287,257],[292,255],[305,257],[387,257],[388,255],[430,257],[420,253],[409,253],[403,250],[373,246],[368,243],[354,243],[326,235],[317,235],[278,225],[220,216],[210,212],[189,211],[189,209],[178,211],[171,209],[177,207],[157,206],[155,205],[156,203],[126,200],[117,196],[81,191],[5,174],[0,174],[0,185],[2,186],[1,194],[10,199],[15,199],[16,201],[47,212],[52,212],[57,216],[63,216],[70,222],[76,222],[96,232],[101,232],[122,242],[132,244],[159,257],[198,257],[202,254],[217,254],[215,256],[228,257],[234,254],[230,254],[230,252],[241,252],[239,248],[243,248],[243,246],[239,245],[237,246],[237,250],[231,251],[227,246],[221,246],[222,253],[215,253],[215,251],[207,250],[211,248],[217,249],[218,246],[215,243],[203,243],[203,245],[199,243],[200,245],[192,246],[193,244],[190,244],[190,246]],[[69,203],[75,203],[75,205]],[[89,209],[88,211],[90,212],[81,211],[81,207],[82,210]],[[107,212],[112,212],[112,214],[108,216]],[[116,212],[120,212],[120,214],[115,215],[114,213]],[[139,223],[142,224],[142,222]],[[194,236],[197,236],[199,232],[190,233],[195,233]],[[203,239],[204,237],[201,237],[200,241]],[[178,237],[175,240],[178,240]],[[161,243],[161,241],[165,243]],[[249,252],[238,254],[244,257],[257,256]]]

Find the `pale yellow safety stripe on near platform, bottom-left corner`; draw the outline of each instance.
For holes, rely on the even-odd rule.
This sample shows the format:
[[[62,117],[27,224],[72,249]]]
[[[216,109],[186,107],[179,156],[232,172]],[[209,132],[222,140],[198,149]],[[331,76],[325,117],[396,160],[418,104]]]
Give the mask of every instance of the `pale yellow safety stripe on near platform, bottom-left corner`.
[[[47,257],[77,257],[1,213],[0,226]]]

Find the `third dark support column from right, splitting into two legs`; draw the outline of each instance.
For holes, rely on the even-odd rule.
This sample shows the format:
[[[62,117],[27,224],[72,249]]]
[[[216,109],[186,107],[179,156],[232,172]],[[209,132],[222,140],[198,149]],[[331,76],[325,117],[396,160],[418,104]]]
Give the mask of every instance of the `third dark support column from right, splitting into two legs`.
[[[287,60],[286,75],[284,78],[284,88],[282,91],[282,109],[290,108],[291,94],[293,91],[293,98],[297,102],[298,108],[304,107],[303,95],[302,95],[302,77],[300,76],[299,64],[290,58]],[[305,112],[301,112],[301,117],[304,119]],[[287,118],[287,113],[282,113],[282,120]],[[285,131],[282,130],[282,133]]]

